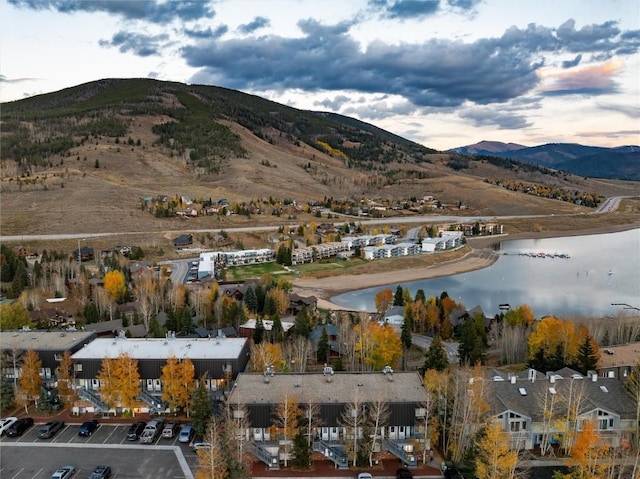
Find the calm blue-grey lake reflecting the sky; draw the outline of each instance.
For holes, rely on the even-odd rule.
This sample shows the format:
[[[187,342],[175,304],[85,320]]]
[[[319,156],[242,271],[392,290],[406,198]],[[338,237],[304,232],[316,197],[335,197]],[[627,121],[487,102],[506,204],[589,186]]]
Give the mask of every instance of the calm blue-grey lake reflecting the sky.
[[[498,261],[487,268],[400,284],[412,297],[418,289],[427,297],[446,291],[467,308],[479,305],[487,316],[500,312],[500,304],[517,307],[526,303],[536,317],[615,316],[628,309],[618,304],[640,308],[640,229],[505,240],[496,252]],[[352,291],[331,301],[349,310],[375,311],[376,293],[385,288],[395,293],[397,286]]]

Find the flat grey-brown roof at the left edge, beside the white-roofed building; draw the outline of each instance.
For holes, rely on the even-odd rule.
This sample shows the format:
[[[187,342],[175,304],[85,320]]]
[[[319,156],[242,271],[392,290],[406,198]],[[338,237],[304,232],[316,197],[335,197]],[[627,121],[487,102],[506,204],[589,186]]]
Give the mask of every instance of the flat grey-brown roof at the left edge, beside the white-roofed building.
[[[94,337],[93,331],[2,331],[0,345],[3,350],[66,351]]]

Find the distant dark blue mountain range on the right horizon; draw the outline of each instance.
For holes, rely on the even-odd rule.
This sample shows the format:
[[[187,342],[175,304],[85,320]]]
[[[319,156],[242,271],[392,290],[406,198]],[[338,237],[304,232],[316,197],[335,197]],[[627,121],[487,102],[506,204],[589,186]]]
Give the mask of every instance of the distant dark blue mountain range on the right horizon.
[[[577,143],[548,143],[527,147],[516,143],[481,141],[448,150],[471,156],[497,156],[566,171],[580,176],[640,180],[640,146],[602,148]]]

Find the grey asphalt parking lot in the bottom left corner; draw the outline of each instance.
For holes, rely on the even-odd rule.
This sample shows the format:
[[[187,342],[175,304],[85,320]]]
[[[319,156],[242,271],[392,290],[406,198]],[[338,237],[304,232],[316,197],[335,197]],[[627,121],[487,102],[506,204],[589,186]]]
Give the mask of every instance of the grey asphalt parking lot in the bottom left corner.
[[[76,468],[77,478],[89,477],[94,467],[111,466],[112,478],[192,479],[196,454],[177,437],[142,445],[127,441],[129,425],[101,424],[90,437],[78,435],[79,425],[67,425],[51,439],[39,439],[36,424],[21,437],[2,437],[3,479],[49,479],[64,465]]]

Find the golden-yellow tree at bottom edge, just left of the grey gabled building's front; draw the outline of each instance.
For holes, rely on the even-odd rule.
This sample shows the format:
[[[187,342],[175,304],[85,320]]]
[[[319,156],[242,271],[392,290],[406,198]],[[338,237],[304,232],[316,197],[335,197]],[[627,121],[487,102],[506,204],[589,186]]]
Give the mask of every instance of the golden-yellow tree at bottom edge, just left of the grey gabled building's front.
[[[518,471],[518,451],[509,447],[509,435],[499,423],[488,425],[480,441],[476,456],[478,479],[515,479]]]

